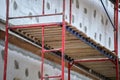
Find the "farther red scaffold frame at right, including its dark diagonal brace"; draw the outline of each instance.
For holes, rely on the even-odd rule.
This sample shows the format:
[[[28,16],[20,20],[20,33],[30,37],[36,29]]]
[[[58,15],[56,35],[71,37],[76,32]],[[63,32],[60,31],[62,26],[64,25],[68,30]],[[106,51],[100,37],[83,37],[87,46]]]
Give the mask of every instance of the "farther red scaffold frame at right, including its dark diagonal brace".
[[[68,80],[70,80],[70,69],[73,66],[73,64],[76,63],[80,63],[80,62],[104,62],[104,61],[112,61],[112,63],[114,63],[114,65],[116,66],[116,80],[120,80],[120,76],[119,76],[119,58],[118,58],[118,8],[119,8],[119,0],[111,0],[111,2],[114,4],[114,23],[112,22],[106,7],[103,3],[102,0],[100,0],[106,15],[113,27],[114,30],[114,52],[116,53],[116,60],[110,60],[108,58],[101,58],[101,59],[87,59],[87,60],[74,60],[73,62],[68,62]],[[70,17],[72,18],[72,0],[70,0]],[[70,23],[71,23],[71,18],[70,18]]]

